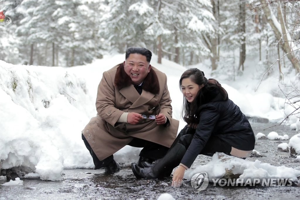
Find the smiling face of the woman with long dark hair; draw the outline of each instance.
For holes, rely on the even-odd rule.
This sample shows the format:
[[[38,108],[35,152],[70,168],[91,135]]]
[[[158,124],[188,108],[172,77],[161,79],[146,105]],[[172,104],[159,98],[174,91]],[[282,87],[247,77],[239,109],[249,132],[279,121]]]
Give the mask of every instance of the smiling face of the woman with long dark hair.
[[[185,79],[182,79],[182,81],[181,81],[182,94],[187,99],[187,101],[190,103],[196,98],[198,91],[202,87],[203,86],[200,86],[200,85],[194,83],[190,78],[185,78]]]

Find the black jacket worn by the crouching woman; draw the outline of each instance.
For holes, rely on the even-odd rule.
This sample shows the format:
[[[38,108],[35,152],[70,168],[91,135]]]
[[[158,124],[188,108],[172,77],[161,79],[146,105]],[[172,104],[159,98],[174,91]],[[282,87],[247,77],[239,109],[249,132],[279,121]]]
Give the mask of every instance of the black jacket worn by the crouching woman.
[[[255,136],[246,116],[232,100],[223,100],[219,91],[204,94],[211,99],[198,108],[199,124],[181,163],[190,167],[211,136],[217,136],[234,148],[254,149]]]

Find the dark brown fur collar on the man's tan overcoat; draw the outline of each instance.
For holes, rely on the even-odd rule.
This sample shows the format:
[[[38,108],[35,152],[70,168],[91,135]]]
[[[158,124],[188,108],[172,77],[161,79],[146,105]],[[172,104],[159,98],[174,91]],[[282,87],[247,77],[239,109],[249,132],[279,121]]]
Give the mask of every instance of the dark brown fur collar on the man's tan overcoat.
[[[123,63],[121,63],[117,68],[114,85],[119,90],[132,85],[132,80],[126,74]],[[150,72],[144,79],[143,90],[151,92],[152,94],[158,94],[160,91],[158,77],[152,68],[150,69]]]

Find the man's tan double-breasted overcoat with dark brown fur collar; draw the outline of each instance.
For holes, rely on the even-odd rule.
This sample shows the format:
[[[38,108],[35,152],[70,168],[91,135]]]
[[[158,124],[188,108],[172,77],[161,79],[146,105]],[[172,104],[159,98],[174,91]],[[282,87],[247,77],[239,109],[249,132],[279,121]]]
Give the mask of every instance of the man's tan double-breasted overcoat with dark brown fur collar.
[[[146,115],[163,113],[167,124],[157,125],[155,120],[142,119],[138,124],[117,122],[124,112],[144,112]],[[97,155],[104,160],[114,154],[134,137],[170,147],[176,138],[179,121],[172,118],[170,93],[167,76],[152,67],[143,82],[140,95],[119,64],[103,73],[98,86],[96,100],[97,116],[82,130],[82,134]]]

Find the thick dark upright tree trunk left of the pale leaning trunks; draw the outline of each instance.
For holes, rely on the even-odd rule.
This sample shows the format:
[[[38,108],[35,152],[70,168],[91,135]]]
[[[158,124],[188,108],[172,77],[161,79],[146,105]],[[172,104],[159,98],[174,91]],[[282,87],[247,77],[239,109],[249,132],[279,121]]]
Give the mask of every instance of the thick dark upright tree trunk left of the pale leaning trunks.
[[[242,34],[241,36],[241,49],[240,49],[240,62],[238,64],[238,70],[244,71],[244,62],[246,59],[246,37],[245,37],[245,32],[246,32],[246,23],[245,23],[245,18],[246,18],[246,5],[245,5],[245,0],[242,0],[240,3],[240,33]]]

